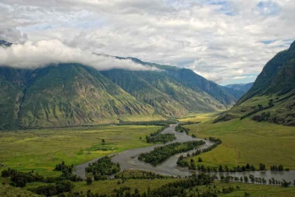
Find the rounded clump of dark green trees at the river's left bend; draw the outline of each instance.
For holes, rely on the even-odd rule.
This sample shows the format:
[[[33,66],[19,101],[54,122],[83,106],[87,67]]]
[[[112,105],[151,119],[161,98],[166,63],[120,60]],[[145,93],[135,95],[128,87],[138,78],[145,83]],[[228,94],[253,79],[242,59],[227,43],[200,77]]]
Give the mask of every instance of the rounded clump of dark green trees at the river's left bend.
[[[113,163],[111,157],[108,156],[99,158],[86,167],[86,172],[93,173],[95,180],[105,180],[107,175],[112,175],[118,171],[120,171],[120,164]]]

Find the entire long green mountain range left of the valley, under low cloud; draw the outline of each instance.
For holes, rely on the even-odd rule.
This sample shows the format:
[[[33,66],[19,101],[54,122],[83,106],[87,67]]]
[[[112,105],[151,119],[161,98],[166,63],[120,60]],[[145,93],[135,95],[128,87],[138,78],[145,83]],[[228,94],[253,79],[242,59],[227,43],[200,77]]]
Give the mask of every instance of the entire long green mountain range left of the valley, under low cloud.
[[[183,117],[225,110],[243,94],[190,69],[129,59],[157,70],[97,71],[74,63],[34,70],[1,66],[0,129]]]

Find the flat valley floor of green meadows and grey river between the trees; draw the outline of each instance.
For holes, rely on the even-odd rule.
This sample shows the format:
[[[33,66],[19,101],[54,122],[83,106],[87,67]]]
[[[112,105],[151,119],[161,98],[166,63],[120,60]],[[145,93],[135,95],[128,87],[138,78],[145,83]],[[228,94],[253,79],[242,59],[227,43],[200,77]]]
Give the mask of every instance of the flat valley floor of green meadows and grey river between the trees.
[[[185,132],[175,132],[176,125],[166,128],[161,133],[174,134],[177,137],[176,142],[208,139],[208,137],[221,138],[223,143],[212,151],[200,153],[198,156],[192,156],[186,159],[188,162],[193,159],[196,165],[198,165],[198,157],[202,158],[202,162],[199,164],[206,167],[214,167],[222,164],[231,168],[247,163],[257,167],[260,162],[263,162],[266,164],[266,170],[268,170],[266,173],[255,171],[224,173],[224,175],[239,177],[241,175],[253,174],[255,177],[262,175],[262,178],[266,180],[276,178],[276,180],[285,179],[292,182],[295,173],[295,166],[293,165],[294,157],[292,154],[292,150],[294,150],[292,140],[295,137],[293,127],[281,126],[274,123],[262,123],[259,126],[257,124],[260,123],[250,119],[234,119],[232,121],[212,123],[216,117],[218,117],[218,114],[209,113],[192,114],[190,117],[179,119],[178,121],[180,122],[201,122],[184,126],[184,128],[189,128],[189,135],[186,135]],[[73,192],[86,192],[88,189],[91,189],[94,193],[109,194],[110,187],[112,189],[120,189],[124,186],[130,188],[131,191],[138,189],[142,194],[144,191],[147,192],[147,187],[150,187],[152,190],[158,189],[164,187],[169,182],[177,182],[177,176],[185,177],[192,175],[193,172],[186,168],[177,167],[176,162],[180,155],[186,155],[187,153],[192,155],[196,150],[172,156],[159,166],[152,166],[137,159],[136,155],[152,151],[155,146],[163,146],[160,144],[151,146],[151,144],[145,142],[145,135],[150,135],[150,133],[156,132],[160,128],[161,126],[127,125],[1,132],[1,144],[3,144],[3,149],[1,148],[1,161],[5,166],[1,166],[0,168],[1,170],[7,169],[9,166],[24,172],[33,170],[41,175],[56,177],[60,175],[60,172],[53,171],[54,166],[64,161],[66,164],[74,164],[76,168],[74,173],[82,178],[86,178],[84,169],[88,166],[88,163],[85,162],[90,160],[93,162],[97,160],[94,158],[110,155],[114,163],[120,163],[120,172],[129,171],[131,177],[132,174],[136,175],[136,169],[168,175],[168,177],[151,180],[130,178],[127,180],[123,179],[124,181],[122,182],[122,178],[113,179],[114,177],[111,175],[109,180],[94,181],[91,185],[86,185],[85,181],[75,182]],[[255,131],[257,128],[260,128],[259,132]],[[196,135],[200,139],[192,138],[191,135]],[[102,142],[102,139],[104,139],[104,142]],[[27,142],[30,142],[31,148],[26,145]],[[208,140],[206,143],[210,144]],[[209,144],[205,146],[209,146]],[[255,148],[250,148],[248,146],[249,144],[250,147]],[[276,144],[276,146],[270,146],[270,144]],[[17,148],[22,146],[26,147],[22,149],[22,152],[13,154],[16,153],[15,150]],[[101,150],[102,147],[105,150]],[[268,147],[267,150],[264,150],[264,147]],[[204,145],[200,148],[204,148]],[[269,154],[272,155],[270,156]],[[32,155],[35,156],[33,157]],[[269,171],[269,167],[273,164],[282,164],[284,167],[289,168],[290,171],[271,172]],[[214,173],[211,174],[214,175]],[[219,178],[221,178],[222,174],[216,173]],[[0,180],[5,183],[9,182],[7,178],[1,178]],[[118,185],[118,181],[122,183]],[[41,182],[27,183],[24,189],[33,189],[42,185],[45,184]],[[292,196],[294,194],[292,187],[284,188],[276,185],[252,185],[241,182],[224,183],[221,180],[215,180],[213,185],[216,188],[229,187],[230,185],[239,187],[239,189],[235,189],[230,194],[223,194],[221,196],[239,195],[244,194],[244,192],[248,192],[251,196],[276,196],[276,194],[279,194],[278,192],[283,192],[285,196]],[[204,187],[198,186],[197,188],[200,192],[207,192],[207,189]],[[189,193],[189,191],[187,192]]]

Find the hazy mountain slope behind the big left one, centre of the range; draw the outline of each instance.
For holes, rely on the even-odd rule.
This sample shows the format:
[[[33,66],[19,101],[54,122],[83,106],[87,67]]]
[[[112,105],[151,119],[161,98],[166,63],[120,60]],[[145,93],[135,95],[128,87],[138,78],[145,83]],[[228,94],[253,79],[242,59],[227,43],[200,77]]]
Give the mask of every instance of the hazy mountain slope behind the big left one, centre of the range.
[[[116,69],[102,71],[102,74],[164,116],[182,117],[187,112],[212,112],[224,108],[214,97],[185,87],[165,71]]]

